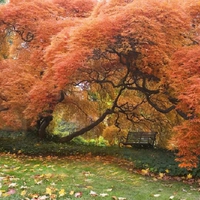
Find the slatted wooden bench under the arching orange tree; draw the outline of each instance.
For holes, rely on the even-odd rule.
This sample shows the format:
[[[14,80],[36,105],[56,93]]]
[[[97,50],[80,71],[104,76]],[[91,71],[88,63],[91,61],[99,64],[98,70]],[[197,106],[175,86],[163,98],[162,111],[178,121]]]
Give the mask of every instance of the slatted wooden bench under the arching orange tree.
[[[147,147],[155,146],[157,132],[128,132],[127,137],[122,136],[119,146],[131,145],[132,147]]]

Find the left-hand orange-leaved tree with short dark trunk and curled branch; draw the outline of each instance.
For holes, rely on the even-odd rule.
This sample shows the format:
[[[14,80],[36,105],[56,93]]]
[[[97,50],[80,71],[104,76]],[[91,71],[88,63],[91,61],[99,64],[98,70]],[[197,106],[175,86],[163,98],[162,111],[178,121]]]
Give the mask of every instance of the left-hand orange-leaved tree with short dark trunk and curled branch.
[[[85,9],[79,12],[80,16],[74,12],[83,2],[69,1],[68,6],[62,8],[59,5],[62,1],[37,0],[10,1],[9,4],[1,6],[2,33],[5,38],[12,35],[9,41],[9,57],[0,64],[1,110],[7,111],[2,112],[7,126],[21,129],[25,119],[26,128],[34,123],[39,126],[39,134],[45,134],[54,106],[63,98],[55,83],[44,77],[45,71],[51,66],[45,62],[45,49],[58,32],[64,28],[69,31],[70,27],[81,23],[81,19],[87,17],[84,14],[90,12],[93,1],[86,1],[88,5],[85,4]],[[59,37],[55,39],[59,43]],[[35,94],[36,92],[38,93]],[[37,106],[34,106],[36,104]]]

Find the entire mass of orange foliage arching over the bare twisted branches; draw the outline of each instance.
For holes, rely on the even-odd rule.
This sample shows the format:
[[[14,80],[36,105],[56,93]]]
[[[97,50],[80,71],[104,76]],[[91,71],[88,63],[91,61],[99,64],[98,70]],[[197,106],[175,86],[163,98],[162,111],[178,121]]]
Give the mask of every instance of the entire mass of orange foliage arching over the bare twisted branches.
[[[0,108],[8,108],[0,113],[1,118],[18,127],[28,119],[29,126],[41,115],[53,112],[60,90],[67,89],[77,69],[96,70],[90,78],[96,76],[99,82],[102,66],[107,72],[117,71],[113,73],[117,74],[112,78],[114,86],[123,83],[120,75],[126,73],[126,65],[133,74],[140,71],[160,81],[148,85],[164,91],[160,98],[154,98],[160,105],[169,106],[163,99],[175,96],[177,109],[194,114],[193,120],[178,127],[175,139],[180,159],[186,163],[183,166],[197,163],[199,13],[198,0],[11,0],[0,6],[1,34],[6,38],[12,35],[10,43],[2,41],[4,49],[0,50]],[[77,75],[75,80],[84,78]],[[166,85],[171,90],[166,92]],[[138,103],[144,98],[138,96],[134,101],[123,95],[118,103]],[[109,98],[113,96],[114,89]],[[145,112],[148,107],[142,108]]]

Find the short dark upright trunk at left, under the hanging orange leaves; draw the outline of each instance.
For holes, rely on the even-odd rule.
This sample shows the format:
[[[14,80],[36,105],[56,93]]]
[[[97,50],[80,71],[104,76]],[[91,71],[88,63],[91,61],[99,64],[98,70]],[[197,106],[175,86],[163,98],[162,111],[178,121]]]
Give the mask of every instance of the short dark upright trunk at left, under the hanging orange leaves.
[[[46,128],[50,124],[50,122],[53,120],[52,116],[47,116],[47,117],[42,117],[38,121],[38,134],[40,138],[45,138],[47,133],[46,133]]]

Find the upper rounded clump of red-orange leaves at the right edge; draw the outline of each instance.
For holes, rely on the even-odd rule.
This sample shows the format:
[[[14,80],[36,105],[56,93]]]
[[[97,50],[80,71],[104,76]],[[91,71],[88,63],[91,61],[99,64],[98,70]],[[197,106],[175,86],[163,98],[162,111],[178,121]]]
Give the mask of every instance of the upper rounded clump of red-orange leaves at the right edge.
[[[200,113],[200,47],[191,46],[180,49],[170,65],[169,76],[177,97],[179,107],[195,108]],[[181,83],[181,84],[180,84]]]

